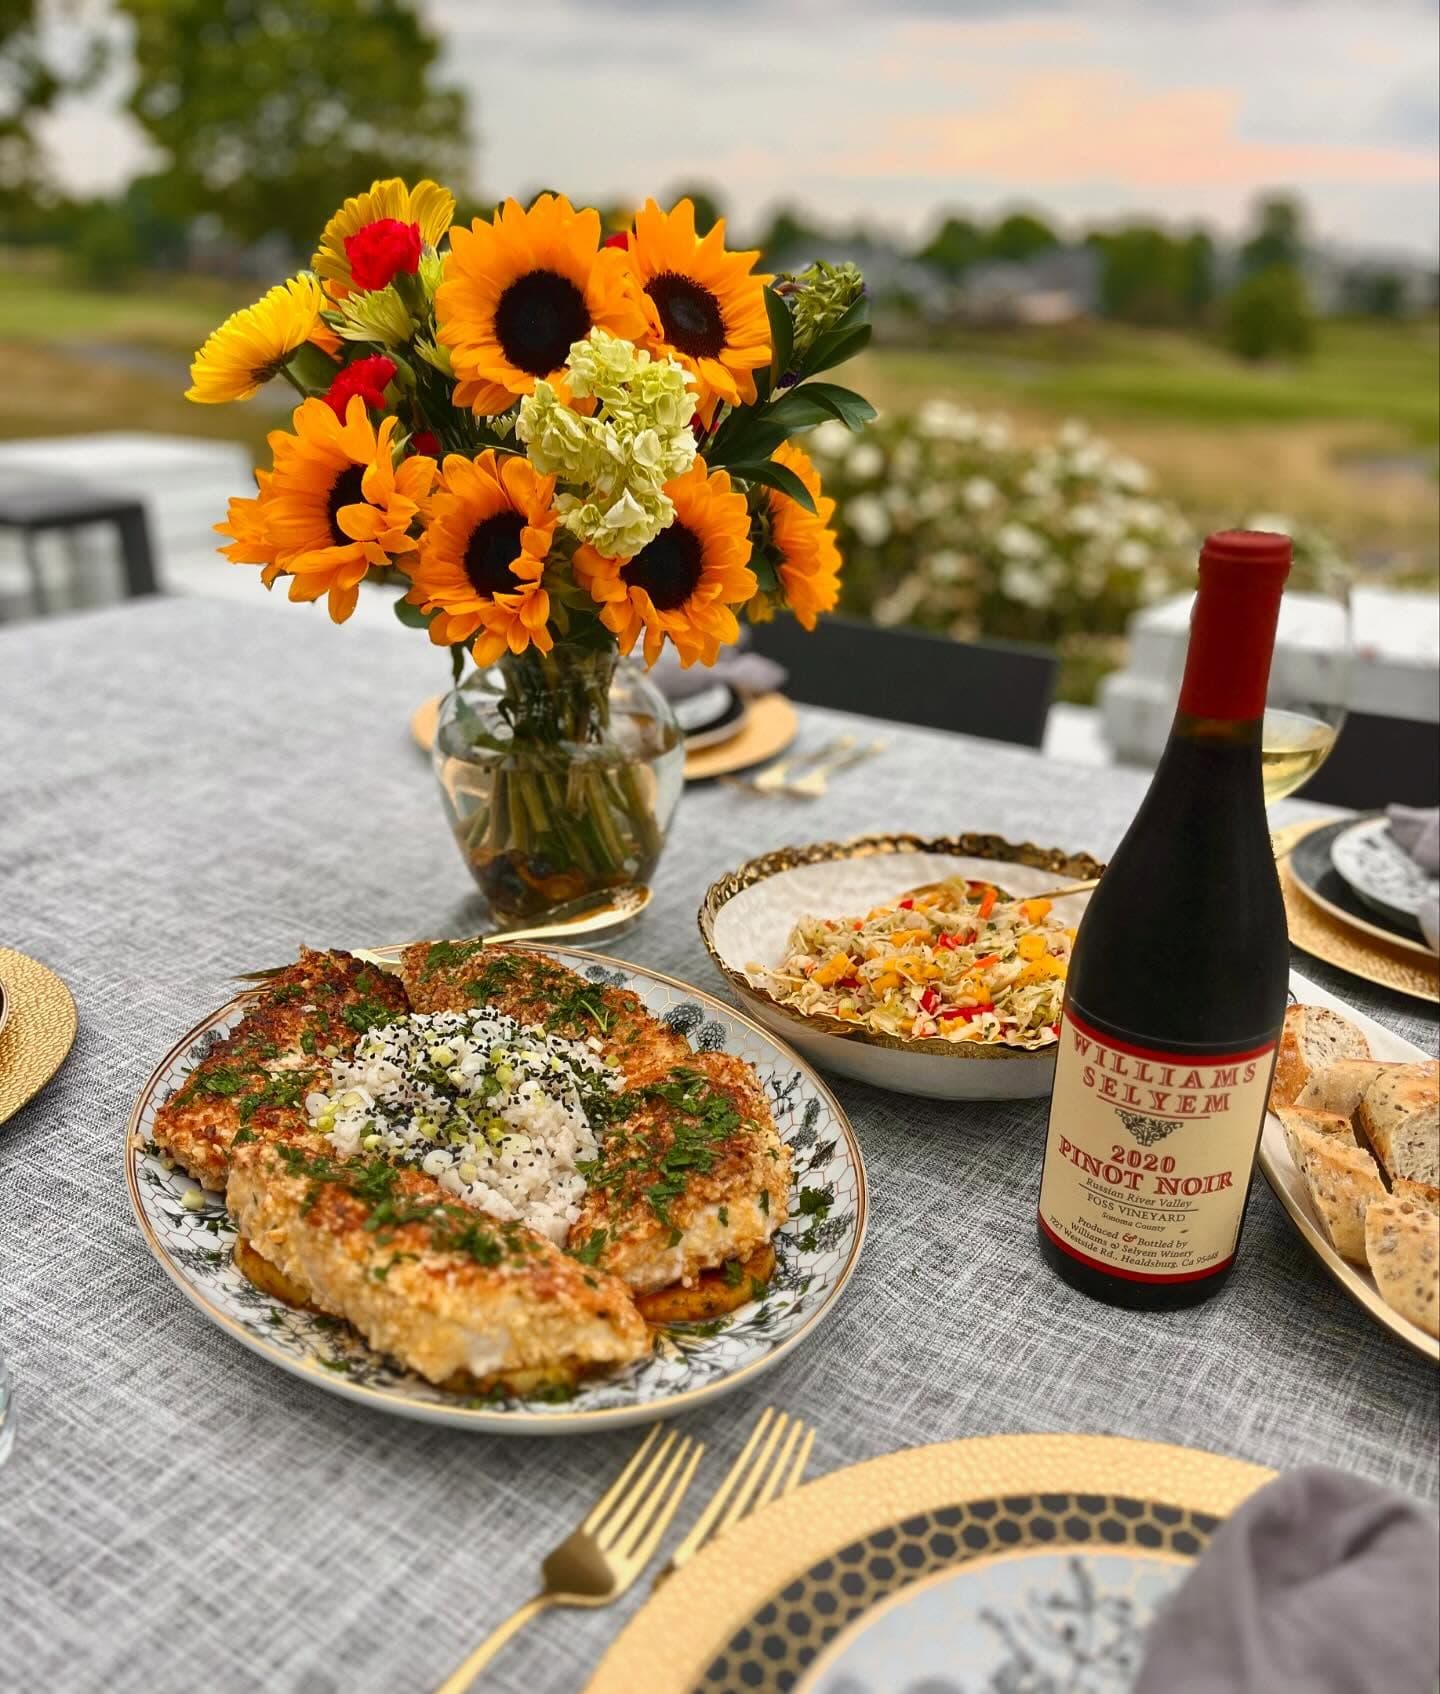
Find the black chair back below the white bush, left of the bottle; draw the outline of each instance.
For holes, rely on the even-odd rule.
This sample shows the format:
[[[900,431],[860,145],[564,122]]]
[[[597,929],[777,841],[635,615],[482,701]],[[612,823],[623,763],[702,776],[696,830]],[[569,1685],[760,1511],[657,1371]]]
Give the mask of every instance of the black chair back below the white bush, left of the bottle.
[[[856,618],[822,618],[806,634],[779,617],[756,623],[750,645],[786,667],[784,691],[800,705],[1022,747],[1040,745],[1055,691],[1055,656],[1042,647],[959,642]]]

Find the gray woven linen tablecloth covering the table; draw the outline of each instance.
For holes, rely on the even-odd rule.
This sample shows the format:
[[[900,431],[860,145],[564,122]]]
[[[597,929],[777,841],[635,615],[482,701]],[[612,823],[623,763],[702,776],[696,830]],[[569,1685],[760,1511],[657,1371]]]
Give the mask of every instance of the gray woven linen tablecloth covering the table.
[[[125,1199],[136,1089],[232,972],[302,938],[476,928],[407,734],[444,674],[418,639],[302,608],[158,601],[0,634],[0,940],[59,971],[80,1006],[59,1077],[0,1127],[0,1347],[20,1406],[0,1472],[5,1689],[427,1691],[530,1594],[634,1445],[478,1438],[296,1382],[185,1301]],[[862,679],[856,693],[864,705]],[[840,722],[806,713],[805,730]],[[615,950],[715,988],[695,908],[750,854],[893,828],[1106,854],[1145,786],[886,734],[889,756],[820,803],[688,793],[657,898]],[[1418,1003],[1298,962],[1433,1050]],[[1330,1282],[1264,1182],[1221,1299],[1113,1311],[1037,1255],[1044,1103],[837,1093],[869,1167],[866,1254],[806,1347],[688,1420],[710,1447],[701,1484],[774,1401],[818,1425],[815,1474],[922,1442],[1083,1430],[1433,1497],[1432,1369]],[[486,1687],[573,1694],[639,1603],[539,1619]]]

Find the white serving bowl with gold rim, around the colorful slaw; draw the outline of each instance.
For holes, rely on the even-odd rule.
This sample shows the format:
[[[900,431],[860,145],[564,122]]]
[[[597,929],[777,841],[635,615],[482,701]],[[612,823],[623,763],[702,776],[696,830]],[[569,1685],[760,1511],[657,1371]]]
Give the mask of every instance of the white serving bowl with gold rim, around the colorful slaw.
[[[786,1006],[752,981],[752,967],[784,959],[789,932],[805,913],[867,911],[922,883],[955,876],[1023,898],[1103,871],[1084,852],[986,833],[861,835],[781,847],[712,883],[700,906],[700,935],[740,1005],[825,1071],[932,1099],[1032,1099],[1050,1089],[1054,1042],[1027,1049],[884,1035]],[[1077,923],[1088,900],[1069,894],[1055,901],[1055,913]]]

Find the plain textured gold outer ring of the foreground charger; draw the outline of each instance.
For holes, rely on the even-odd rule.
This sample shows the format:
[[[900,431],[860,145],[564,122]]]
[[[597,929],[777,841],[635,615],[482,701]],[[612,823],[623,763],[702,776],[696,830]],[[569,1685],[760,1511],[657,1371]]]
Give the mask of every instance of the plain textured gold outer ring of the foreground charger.
[[[917,1513],[1008,1494],[1125,1494],[1227,1518],[1272,1475],[1108,1435],[991,1435],[871,1459],[766,1506],[681,1565],[630,1619],[586,1694],[690,1694],[756,1606],[847,1542]]]

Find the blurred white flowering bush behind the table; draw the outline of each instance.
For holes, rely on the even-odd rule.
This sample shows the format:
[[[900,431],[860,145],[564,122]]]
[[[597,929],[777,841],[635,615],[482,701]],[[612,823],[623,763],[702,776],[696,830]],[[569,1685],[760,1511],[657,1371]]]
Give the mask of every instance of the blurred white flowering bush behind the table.
[[[1130,615],[1193,581],[1193,525],[1083,424],[1032,446],[930,400],[859,442],[822,424],[808,447],[839,501],[845,610],[1055,647],[1062,698],[1088,701]]]

